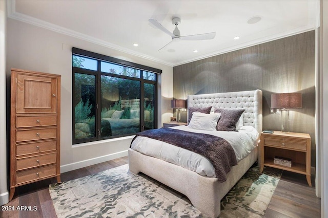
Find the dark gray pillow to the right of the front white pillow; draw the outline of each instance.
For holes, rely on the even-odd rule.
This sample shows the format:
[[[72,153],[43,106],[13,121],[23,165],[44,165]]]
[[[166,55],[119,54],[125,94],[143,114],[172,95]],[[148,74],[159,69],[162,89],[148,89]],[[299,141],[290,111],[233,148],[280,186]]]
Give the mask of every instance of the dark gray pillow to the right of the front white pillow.
[[[221,117],[217,122],[216,130],[218,131],[236,131],[236,124],[239,117],[245,110],[229,110],[223,108],[214,108],[214,113],[220,113]]]

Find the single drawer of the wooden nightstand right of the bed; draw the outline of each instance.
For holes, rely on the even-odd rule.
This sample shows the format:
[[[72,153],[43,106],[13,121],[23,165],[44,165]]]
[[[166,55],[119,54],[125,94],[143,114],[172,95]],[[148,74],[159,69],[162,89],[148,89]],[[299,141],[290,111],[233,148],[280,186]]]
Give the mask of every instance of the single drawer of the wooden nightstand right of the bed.
[[[276,146],[276,147],[284,147],[291,148],[297,150],[306,150],[306,141],[305,140],[285,140],[283,138],[265,138],[264,137],[264,145]]]

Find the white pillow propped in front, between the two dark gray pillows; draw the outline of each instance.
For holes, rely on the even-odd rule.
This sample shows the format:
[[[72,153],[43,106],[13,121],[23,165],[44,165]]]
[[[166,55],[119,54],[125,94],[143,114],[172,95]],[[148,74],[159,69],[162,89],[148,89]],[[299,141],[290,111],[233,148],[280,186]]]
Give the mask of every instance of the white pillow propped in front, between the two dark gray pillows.
[[[220,118],[219,113],[203,114],[194,112],[188,125],[189,128],[216,131],[217,121]]]

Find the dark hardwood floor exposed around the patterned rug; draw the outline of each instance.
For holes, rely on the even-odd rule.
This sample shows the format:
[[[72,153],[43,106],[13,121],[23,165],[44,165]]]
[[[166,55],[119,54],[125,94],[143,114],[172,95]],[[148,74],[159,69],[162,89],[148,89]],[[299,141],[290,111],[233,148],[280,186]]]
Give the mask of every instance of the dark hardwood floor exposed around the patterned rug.
[[[127,163],[128,157],[123,157],[61,173],[61,181],[77,179]],[[55,182],[55,179],[48,179],[17,187],[13,200],[4,206],[8,206],[7,209],[24,206],[23,209],[29,210],[1,210],[0,217],[56,217],[48,191],[49,184]],[[312,184],[315,184],[314,179]],[[315,188],[309,187],[305,176],[284,171],[264,217],[320,217],[320,204]]]

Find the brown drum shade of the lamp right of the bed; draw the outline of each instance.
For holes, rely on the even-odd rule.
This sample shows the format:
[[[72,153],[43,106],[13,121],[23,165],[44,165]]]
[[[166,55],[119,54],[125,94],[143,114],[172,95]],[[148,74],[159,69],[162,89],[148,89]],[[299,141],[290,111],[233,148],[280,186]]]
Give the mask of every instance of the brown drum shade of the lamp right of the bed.
[[[302,94],[280,93],[271,95],[271,108],[301,108]]]

